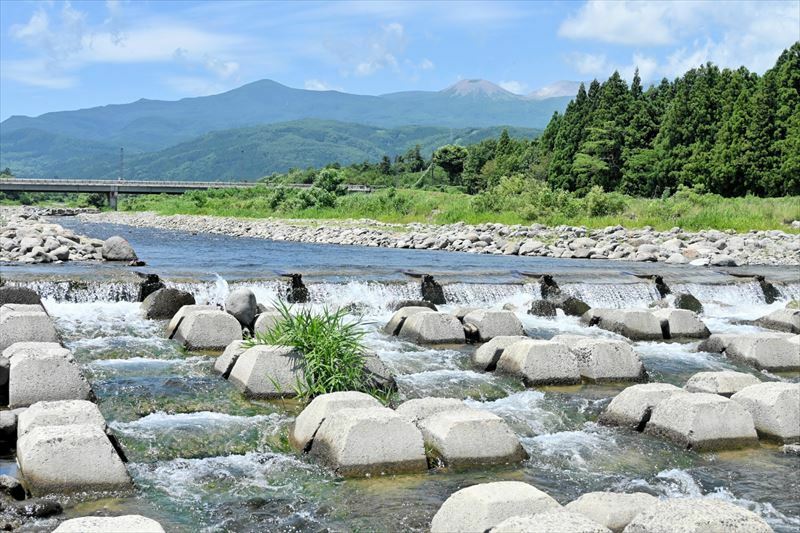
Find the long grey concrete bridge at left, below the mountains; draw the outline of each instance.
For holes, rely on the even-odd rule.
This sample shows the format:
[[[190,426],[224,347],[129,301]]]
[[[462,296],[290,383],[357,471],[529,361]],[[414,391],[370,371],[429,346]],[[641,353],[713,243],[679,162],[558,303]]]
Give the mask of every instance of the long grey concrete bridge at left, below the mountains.
[[[188,191],[208,189],[251,189],[259,183],[243,181],[128,181],[128,180],[81,180],[81,179],[0,179],[0,192],[61,192],[103,193],[108,196],[108,205],[117,208],[120,194],[183,194]],[[287,183],[267,187],[307,189],[312,185]],[[372,192],[368,185],[347,185],[347,192]]]

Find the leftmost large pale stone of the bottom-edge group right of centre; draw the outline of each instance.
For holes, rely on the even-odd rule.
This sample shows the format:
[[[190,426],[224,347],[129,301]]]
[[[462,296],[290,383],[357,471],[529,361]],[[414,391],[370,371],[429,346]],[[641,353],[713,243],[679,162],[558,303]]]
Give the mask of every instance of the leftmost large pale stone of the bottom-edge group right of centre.
[[[515,516],[561,509],[533,485],[495,481],[461,489],[450,495],[431,521],[431,533],[485,532]]]

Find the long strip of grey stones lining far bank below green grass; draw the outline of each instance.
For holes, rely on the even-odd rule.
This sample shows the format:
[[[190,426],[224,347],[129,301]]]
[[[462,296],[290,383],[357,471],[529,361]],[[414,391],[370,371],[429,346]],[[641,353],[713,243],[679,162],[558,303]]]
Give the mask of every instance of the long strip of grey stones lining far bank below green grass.
[[[663,261],[710,266],[800,264],[800,235],[780,230],[735,233],[732,230],[656,231],[609,226],[546,227],[464,223],[389,224],[375,220],[238,219],[155,213],[82,214],[90,222],[188,230],[279,241],[447,250],[454,252],[554,258]]]

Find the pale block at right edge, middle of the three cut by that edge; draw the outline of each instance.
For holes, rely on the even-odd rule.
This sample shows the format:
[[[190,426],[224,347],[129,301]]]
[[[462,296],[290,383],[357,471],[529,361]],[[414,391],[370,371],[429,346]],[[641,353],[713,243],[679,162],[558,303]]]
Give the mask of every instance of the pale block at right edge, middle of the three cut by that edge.
[[[725,355],[770,371],[800,370],[800,335],[749,333],[730,339]]]

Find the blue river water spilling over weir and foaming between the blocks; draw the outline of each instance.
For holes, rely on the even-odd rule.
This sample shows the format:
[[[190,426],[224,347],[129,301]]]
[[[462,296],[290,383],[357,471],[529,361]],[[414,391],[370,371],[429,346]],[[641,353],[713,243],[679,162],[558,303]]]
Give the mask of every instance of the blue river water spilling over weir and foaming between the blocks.
[[[541,297],[530,277],[536,273],[551,273],[566,292],[606,307],[646,307],[658,292],[636,275],[659,273],[674,290],[703,301],[703,319],[713,332],[756,331],[741,321],[784,305],[766,304],[757,283],[688,267],[274,243],[82,227],[76,221],[65,225],[92,235],[126,236],[148,261],[143,270],[190,290],[199,301],[221,302],[232,287],[246,286],[268,303],[285,283],[279,274],[302,272],[310,305],[349,306],[363,316],[367,344],[397,373],[400,400],[466,399],[508,421],[531,457],[507,467],[337,478],[288,447],[287,431],[301,406],[246,400],[213,372],[212,355],[187,353],[166,340],[165,323],[141,318],[138,304],[131,301],[137,286],[124,274],[125,267],[4,267],[12,282],[24,281],[44,295],[130,459],[136,484],[132,495],[73,497],[66,502],[69,516],[99,509],[138,513],[159,520],[168,531],[424,531],[459,488],[521,480],[563,504],[596,490],[725,499],[757,512],[776,531],[800,530],[800,457],[777,446],[686,451],[648,435],[598,425],[598,414],[621,386],[526,389],[516,379],[472,370],[474,347],[420,347],[380,333],[392,301],[419,296],[418,282],[404,274],[409,271],[433,273],[445,282],[450,302],[445,310],[516,305],[528,334],[539,338],[614,335],[585,328],[572,317],[527,315],[526,304]],[[796,272],[764,273],[779,282],[784,301],[800,293]],[[651,381],[683,385],[702,370],[757,373],[696,348],[697,343],[635,344]],[[800,379],[763,373],[760,378]],[[13,460],[0,462],[0,472],[13,471]]]

